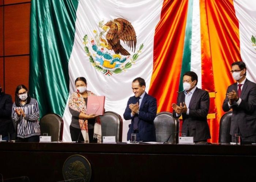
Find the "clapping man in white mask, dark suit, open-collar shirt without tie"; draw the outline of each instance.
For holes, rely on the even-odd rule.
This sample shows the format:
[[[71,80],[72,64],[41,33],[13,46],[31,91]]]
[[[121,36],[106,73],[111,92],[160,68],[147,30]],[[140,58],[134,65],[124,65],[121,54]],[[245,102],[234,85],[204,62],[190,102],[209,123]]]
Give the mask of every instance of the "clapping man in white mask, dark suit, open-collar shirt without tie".
[[[207,114],[210,106],[209,93],[196,87],[197,75],[188,71],[183,75],[183,89],[179,92],[177,104],[173,103],[173,116],[182,115],[182,130],[187,130],[187,137],[194,137],[194,142],[207,142],[211,138],[207,123]],[[187,107],[188,106],[188,107]]]

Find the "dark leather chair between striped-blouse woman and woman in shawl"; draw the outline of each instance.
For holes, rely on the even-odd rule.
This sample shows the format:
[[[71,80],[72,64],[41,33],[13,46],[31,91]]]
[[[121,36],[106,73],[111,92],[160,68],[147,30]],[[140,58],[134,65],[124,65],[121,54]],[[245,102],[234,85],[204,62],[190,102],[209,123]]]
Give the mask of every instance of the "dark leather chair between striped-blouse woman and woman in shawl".
[[[60,115],[49,113],[40,119],[41,135],[48,133],[52,137],[52,142],[62,140],[63,135],[63,119]]]

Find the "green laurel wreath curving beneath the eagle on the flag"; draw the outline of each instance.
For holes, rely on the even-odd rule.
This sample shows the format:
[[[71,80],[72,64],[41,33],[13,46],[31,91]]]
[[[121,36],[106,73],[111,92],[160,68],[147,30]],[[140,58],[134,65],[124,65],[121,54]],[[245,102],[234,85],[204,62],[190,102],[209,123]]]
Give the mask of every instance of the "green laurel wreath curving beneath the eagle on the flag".
[[[89,61],[91,62],[91,64],[94,66],[94,68],[100,72],[102,72],[103,74],[105,74],[106,72],[110,72],[111,74],[119,74],[121,72],[124,72],[126,71],[127,69],[131,68],[132,67],[132,64],[135,64],[135,61],[139,58],[139,55],[141,53],[141,50],[142,48],[144,47],[143,44],[140,44],[140,48],[139,50],[136,52],[136,54],[134,54],[132,56],[131,59],[129,59],[129,62],[126,63],[124,66],[121,66],[122,68],[116,68],[115,70],[108,70],[108,69],[105,69],[105,68],[102,68],[100,66],[97,65],[97,63],[95,63],[94,59],[93,59],[93,56],[91,55],[90,51],[89,51],[89,47],[87,46],[87,43],[88,43],[88,35],[85,35],[83,37],[83,44],[85,45],[84,46],[84,51],[86,52],[87,56],[89,56]]]

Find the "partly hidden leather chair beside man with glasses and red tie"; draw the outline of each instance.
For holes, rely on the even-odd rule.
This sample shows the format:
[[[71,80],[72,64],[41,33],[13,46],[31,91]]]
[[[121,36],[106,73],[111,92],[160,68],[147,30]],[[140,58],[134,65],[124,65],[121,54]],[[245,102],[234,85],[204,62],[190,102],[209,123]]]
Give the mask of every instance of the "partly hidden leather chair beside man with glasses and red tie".
[[[226,112],[219,122],[219,143],[230,143],[232,141],[230,133],[232,111]]]

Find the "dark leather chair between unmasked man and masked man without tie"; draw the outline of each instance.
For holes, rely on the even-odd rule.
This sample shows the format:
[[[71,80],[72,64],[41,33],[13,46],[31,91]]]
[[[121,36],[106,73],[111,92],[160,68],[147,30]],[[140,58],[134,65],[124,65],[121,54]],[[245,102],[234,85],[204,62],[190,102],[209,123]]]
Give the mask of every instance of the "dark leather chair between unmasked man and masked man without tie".
[[[155,134],[157,142],[165,142],[170,134],[179,131],[179,119],[173,118],[171,112],[159,112],[155,117]],[[172,134],[167,142],[177,143],[178,134]]]

